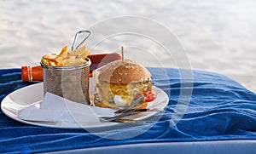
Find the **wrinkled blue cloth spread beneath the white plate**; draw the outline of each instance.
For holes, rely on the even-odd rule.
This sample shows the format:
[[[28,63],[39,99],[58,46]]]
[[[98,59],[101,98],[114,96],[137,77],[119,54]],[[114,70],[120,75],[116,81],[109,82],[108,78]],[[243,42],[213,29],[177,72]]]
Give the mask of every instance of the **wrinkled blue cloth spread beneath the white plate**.
[[[45,128],[19,123],[0,111],[0,152],[46,152],[136,143],[188,142],[209,140],[256,140],[256,94],[229,77],[208,71],[148,68],[154,85],[166,91],[165,111],[149,118],[160,118],[146,132],[129,139],[113,140],[143,131],[147,124],[89,133],[83,128]],[[186,71],[184,71],[186,74]],[[185,77],[184,77],[185,76]],[[189,76],[188,76],[189,77]],[[37,83],[37,82],[35,82]],[[0,70],[0,100],[33,83],[20,80],[20,69]],[[190,95],[191,93],[191,95]],[[186,101],[189,100],[189,104]],[[182,104],[184,102],[184,104]],[[177,104],[185,111],[173,122]],[[188,105],[188,106],[187,106]],[[174,123],[174,124],[173,124]]]

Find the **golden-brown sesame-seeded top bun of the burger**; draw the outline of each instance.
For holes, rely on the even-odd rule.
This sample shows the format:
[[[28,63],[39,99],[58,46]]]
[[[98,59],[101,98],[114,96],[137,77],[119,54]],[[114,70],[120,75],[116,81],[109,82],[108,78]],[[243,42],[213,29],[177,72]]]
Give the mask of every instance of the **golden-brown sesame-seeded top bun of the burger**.
[[[139,83],[151,77],[150,72],[133,60],[115,60],[103,66],[98,76],[99,81],[108,83]]]

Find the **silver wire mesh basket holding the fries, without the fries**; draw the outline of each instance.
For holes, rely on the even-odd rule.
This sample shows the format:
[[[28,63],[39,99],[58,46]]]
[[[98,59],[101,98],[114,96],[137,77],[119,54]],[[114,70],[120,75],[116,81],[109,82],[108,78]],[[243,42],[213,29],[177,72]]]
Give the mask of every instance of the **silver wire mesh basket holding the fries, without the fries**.
[[[89,76],[90,59],[79,66],[45,66],[44,94],[59,95],[67,100],[90,105]]]

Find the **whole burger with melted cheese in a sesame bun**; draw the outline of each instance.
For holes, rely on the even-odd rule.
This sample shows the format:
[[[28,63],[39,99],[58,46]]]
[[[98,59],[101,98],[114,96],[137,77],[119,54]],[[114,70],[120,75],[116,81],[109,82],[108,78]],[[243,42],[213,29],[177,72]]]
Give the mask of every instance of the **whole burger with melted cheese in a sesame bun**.
[[[108,108],[130,106],[144,96],[136,108],[146,108],[156,98],[150,72],[134,60],[115,60],[94,72],[95,105]]]

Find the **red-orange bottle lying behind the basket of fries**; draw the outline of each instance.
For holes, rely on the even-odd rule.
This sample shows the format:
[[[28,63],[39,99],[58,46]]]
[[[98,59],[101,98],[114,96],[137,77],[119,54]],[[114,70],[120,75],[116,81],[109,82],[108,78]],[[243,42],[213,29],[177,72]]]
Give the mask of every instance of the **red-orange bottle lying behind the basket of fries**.
[[[91,72],[100,66],[104,66],[111,61],[120,60],[122,57],[118,53],[111,54],[90,54],[88,56],[91,61],[90,65],[90,77]],[[43,81],[43,67],[42,66],[22,66],[21,67],[21,79],[23,82]]]

